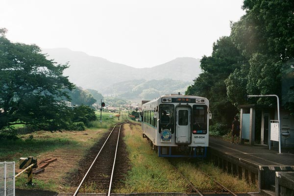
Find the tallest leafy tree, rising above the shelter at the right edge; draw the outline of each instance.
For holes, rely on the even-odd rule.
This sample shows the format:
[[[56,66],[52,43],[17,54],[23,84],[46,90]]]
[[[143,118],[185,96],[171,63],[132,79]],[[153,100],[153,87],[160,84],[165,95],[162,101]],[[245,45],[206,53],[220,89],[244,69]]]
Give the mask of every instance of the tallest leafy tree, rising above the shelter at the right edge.
[[[231,89],[236,87],[234,83],[238,79],[230,75],[226,80],[229,98],[238,104],[244,89],[248,94],[275,94],[283,100],[283,106],[294,112],[291,104],[291,95],[294,94],[291,87],[294,86],[291,67],[294,60],[293,0],[245,0],[244,9],[245,16],[231,25],[230,37],[247,59],[247,71],[232,73],[235,76],[237,73],[247,73],[243,74],[245,79],[239,79],[245,88],[240,94],[237,92],[238,95],[233,95]],[[251,100],[275,104],[270,98]]]

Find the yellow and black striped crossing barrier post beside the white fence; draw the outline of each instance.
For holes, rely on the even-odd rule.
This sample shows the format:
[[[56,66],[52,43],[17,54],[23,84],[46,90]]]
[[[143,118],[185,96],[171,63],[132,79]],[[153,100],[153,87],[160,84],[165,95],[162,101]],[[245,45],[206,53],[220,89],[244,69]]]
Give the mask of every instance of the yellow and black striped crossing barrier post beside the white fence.
[[[18,173],[15,177],[20,176],[22,173],[27,172],[27,185],[34,185],[32,183],[33,180],[33,168],[37,168],[37,159],[34,157],[21,157],[20,158],[20,169],[23,169],[22,172]]]

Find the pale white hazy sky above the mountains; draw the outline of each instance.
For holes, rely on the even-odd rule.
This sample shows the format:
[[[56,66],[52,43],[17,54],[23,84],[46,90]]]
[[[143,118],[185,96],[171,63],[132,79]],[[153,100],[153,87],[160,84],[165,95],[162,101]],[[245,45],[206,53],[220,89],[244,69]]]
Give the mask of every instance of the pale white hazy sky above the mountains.
[[[142,68],[211,55],[243,0],[0,0],[12,42],[69,48]]]

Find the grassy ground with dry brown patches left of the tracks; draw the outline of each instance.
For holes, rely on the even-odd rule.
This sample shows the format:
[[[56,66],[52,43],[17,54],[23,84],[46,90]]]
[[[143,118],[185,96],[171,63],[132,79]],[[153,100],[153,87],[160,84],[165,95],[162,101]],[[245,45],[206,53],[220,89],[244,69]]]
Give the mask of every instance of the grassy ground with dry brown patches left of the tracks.
[[[20,157],[34,156],[39,161],[57,158],[44,173],[33,176],[34,187],[25,186],[27,175],[23,174],[16,179],[16,188],[73,192],[74,188],[64,183],[67,173],[77,168],[79,159],[107,131],[110,123],[116,122],[116,117],[109,118],[109,113],[102,113],[102,123],[93,122],[94,127],[85,131],[37,131],[17,135],[18,140],[1,140],[0,161],[15,161],[18,170]]]

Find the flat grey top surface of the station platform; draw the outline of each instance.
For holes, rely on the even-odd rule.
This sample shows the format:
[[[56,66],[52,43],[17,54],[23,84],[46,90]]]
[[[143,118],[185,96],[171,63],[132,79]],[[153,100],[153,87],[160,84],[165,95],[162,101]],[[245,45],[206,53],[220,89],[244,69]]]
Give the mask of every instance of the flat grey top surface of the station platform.
[[[292,169],[294,169],[294,154],[278,154],[277,151],[269,150],[267,146],[256,147],[230,144],[229,142],[215,137],[209,138],[209,146],[223,153],[246,160],[257,166],[292,167]]]

